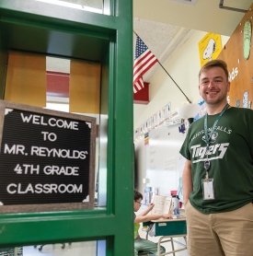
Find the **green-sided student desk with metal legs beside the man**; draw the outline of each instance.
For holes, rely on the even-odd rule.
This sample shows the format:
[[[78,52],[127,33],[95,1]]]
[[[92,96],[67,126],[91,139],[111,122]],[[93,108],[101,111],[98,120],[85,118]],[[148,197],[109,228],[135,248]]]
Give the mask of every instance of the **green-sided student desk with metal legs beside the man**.
[[[187,235],[187,228],[186,228],[186,219],[184,217],[180,217],[177,219],[158,219],[154,221],[150,221],[144,223],[144,226],[152,226],[151,229],[147,231],[147,236],[150,235],[149,233],[152,232],[152,235],[155,237],[161,237],[157,243],[157,252],[159,256],[164,256],[167,254],[173,254],[176,256],[177,251],[187,250],[186,245],[186,235]],[[173,240],[175,238],[182,237],[185,239],[185,244],[178,242],[177,240]],[[170,241],[172,250],[167,251],[166,253],[160,252],[160,245],[161,243]],[[175,250],[174,242],[178,243],[181,248]]]

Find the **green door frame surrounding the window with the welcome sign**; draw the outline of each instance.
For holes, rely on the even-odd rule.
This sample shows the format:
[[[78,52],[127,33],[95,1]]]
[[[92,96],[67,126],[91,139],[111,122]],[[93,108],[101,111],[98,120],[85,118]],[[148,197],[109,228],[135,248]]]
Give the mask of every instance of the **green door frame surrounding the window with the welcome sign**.
[[[109,6],[106,16],[34,0],[0,1],[1,99],[10,50],[97,61],[104,70],[101,113],[109,120],[107,206],[1,214],[1,248],[106,239],[107,255],[133,255],[132,0]]]

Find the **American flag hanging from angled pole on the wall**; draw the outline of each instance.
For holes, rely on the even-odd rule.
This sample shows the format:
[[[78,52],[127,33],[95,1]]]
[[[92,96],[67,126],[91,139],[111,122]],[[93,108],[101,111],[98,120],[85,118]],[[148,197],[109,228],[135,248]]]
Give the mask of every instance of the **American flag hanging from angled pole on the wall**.
[[[144,88],[144,74],[158,60],[155,55],[147,48],[138,36],[136,38],[135,59],[133,64],[133,92],[136,93]]]

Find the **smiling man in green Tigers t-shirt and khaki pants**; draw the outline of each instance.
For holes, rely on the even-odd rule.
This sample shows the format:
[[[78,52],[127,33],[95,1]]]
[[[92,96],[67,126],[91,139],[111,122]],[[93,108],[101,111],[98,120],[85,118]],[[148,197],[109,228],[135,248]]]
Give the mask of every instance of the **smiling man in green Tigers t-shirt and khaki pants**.
[[[224,61],[201,67],[207,114],[180,149],[190,256],[253,255],[253,111],[229,106],[229,87]]]

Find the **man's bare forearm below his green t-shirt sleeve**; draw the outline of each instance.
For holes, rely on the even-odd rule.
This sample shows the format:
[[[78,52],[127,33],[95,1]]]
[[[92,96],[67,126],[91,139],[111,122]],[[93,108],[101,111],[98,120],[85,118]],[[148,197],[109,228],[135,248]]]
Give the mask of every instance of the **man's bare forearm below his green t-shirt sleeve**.
[[[192,192],[192,178],[191,178],[191,161],[186,160],[182,175],[183,182],[183,198],[184,204],[186,204]]]

